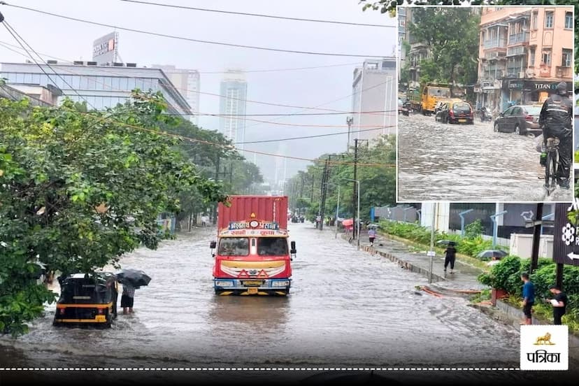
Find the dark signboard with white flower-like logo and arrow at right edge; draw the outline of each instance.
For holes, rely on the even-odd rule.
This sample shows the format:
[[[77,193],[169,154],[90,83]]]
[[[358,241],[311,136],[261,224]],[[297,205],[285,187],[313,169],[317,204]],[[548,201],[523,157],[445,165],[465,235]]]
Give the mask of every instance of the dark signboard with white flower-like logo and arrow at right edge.
[[[553,232],[553,261],[579,266],[579,224],[569,221],[571,210],[579,210],[579,199],[573,203],[555,204]]]

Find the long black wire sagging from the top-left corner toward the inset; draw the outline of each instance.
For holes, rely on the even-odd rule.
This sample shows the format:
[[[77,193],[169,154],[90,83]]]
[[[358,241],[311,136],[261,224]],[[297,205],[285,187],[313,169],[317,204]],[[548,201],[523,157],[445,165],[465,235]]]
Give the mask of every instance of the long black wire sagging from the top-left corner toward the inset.
[[[32,12],[36,12],[36,13],[41,13],[43,15],[50,15],[50,16],[54,16],[54,17],[60,17],[62,19],[66,19],[66,20],[73,20],[75,22],[83,22],[83,23],[87,23],[87,24],[93,24],[93,25],[99,25],[101,27],[107,27],[107,28],[115,28],[115,29],[121,29],[123,31],[130,31],[130,32],[136,32],[138,34],[147,34],[147,35],[151,35],[151,36],[160,36],[162,38],[173,38],[173,39],[178,39],[178,40],[183,40],[183,41],[192,41],[194,43],[204,43],[204,44],[213,44],[213,45],[225,45],[227,47],[235,47],[235,48],[250,48],[253,50],[265,50],[265,51],[274,51],[274,52],[287,52],[290,54],[303,54],[303,55],[324,55],[324,56],[334,56],[334,57],[385,57],[385,55],[354,55],[354,54],[342,54],[342,53],[334,53],[334,52],[313,52],[313,51],[299,51],[299,50],[284,50],[281,48],[269,48],[269,47],[258,47],[256,45],[243,45],[243,44],[234,44],[234,43],[223,43],[223,42],[217,42],[217,41],[204,41],[204,40],[200,40],[200,39],[194,39],[194,38],[187,38],[185,36],[176,36],[176,35],[170,35],[170,34],[161,34],[159,32],[152,32],[152,31],[145,31],[143,29],[134,29],[134,28],[128,28],[128,27],[119,27],[117,25],[113,25],[113,24],[106,24],[106,23],[101,23],[101,22],[93,22],[91,20],[85,20],[85,19],[79,19],[78,17],[70,17],[70,16],[65,16],[65,15],[59,15],[57,13],[50,13],[50,12],[46,12],[44,10],[38,10],[38,9],[34,9],[34,8],[29,8],[29,7],[23,7],[23,6],[15,6],[13,4],[8,4],[8,3],[2,3],[3,5],[6,6],[11,6],[14,8],[20,8],[20,9],[24,9],[24,10],[30,10]]]

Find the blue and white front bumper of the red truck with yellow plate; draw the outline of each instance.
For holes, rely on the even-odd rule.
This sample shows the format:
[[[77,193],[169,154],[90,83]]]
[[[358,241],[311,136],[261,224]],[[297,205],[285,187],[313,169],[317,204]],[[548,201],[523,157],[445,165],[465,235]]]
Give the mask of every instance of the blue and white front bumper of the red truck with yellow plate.
[[[220,295],[278,295],[290,293],[292,279],[240,280],[232,278],[214,278],[215,294]]]

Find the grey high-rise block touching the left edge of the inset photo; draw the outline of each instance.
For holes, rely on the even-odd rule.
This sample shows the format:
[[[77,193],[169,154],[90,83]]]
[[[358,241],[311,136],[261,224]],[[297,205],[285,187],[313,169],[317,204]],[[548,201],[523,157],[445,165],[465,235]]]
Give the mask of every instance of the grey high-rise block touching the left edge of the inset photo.
[[[396,133],[396,58],[366,59],[354,70],[352,138]]]

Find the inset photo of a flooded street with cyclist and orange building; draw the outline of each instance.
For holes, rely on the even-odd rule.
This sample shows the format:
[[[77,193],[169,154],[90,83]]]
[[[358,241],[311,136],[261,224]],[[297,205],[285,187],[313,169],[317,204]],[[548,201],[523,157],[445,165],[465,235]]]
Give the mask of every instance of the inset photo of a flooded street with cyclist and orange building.
[[[396,201],[572,201],[573,6],[398,12]]]

